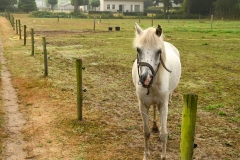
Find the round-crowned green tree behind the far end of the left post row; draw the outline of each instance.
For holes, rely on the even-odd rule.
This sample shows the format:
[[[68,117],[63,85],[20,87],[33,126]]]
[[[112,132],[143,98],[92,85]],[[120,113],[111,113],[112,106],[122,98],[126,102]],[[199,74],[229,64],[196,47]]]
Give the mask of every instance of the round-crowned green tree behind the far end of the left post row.
[[[19,0],[18,9],[28,13],[37,10],[37,5],[35,0]]]

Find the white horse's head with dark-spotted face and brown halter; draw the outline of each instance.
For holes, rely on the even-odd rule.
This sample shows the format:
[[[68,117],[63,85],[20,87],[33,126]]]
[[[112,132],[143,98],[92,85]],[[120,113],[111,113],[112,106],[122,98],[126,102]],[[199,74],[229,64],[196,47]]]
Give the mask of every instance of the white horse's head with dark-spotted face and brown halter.
[[[162,27],[158,25],[157,29],[150,27],[142,30],[135,23],[135,28],[134,47],[137,49],[139,82],[143,87],[149,88],[158,71],[161,54],[164,52],[163,38],[161,36]]]

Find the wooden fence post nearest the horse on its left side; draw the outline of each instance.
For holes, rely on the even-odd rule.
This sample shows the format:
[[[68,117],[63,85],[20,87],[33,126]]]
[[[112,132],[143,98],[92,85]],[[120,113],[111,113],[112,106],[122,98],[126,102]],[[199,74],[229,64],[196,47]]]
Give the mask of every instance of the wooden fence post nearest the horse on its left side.
[[[78,120],[82,120],[82,60],[76,59],[76,75],[77,75],[77,116]]]

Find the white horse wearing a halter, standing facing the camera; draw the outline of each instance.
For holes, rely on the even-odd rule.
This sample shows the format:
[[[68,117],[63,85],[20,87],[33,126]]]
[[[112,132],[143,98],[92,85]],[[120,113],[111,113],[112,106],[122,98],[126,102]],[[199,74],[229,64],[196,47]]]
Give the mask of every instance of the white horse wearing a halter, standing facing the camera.
[[[133,64],[132,78],[143,119],[145,145],[143,160],[147,160],[150,155],[148,111],[152,105],[154,108],[153,129],[155,131],[158,131],[155,121],[156,108],[160,112],[160,140],[163,142],[161,159],[166,159],[168,102],[180,80],[180,55],[176,47],[163,40],[160,25],[157,29],[150,27],[143,30],[135,23],[135,28],[134,47],[137,49],[137,59]]]

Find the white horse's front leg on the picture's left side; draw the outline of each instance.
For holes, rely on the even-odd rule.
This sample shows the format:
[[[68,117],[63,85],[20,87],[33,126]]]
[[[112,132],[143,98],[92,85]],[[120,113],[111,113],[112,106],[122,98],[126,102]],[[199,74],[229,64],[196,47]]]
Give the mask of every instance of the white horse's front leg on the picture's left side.
[[[150,155],[149,152],[149,138],[150,138],[150,131],[148,128],[148,107],[143,105],[142,103],[139,104],[139,109],[142,115],[143,120],[143,134],[144,134],[144,157],[143,160],[147,160],[148,156]]]

